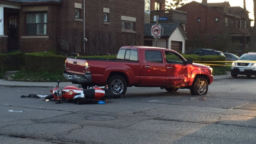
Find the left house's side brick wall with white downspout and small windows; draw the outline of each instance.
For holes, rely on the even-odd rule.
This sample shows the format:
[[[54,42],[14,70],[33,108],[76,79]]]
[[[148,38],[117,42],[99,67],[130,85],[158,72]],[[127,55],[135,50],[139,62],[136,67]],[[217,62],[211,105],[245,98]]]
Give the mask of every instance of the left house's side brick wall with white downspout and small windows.
[[[74,3],[82,4],[81,21],[74,19]],[[143,45],[144,2],[133,0],[85,1],[85,53],[83,50],[83,0],[63,1],[60,9],[60,40],[67,40],[69,52],[80,54],[116,54],[123,45]],[[104,24],[103,8],[109,9],[109,23]],[[69,9],[67,11],[66,9]],[[138,11],[141,9],[141,11]],[[137,33],[122,33],[121,16],[135,17]],[[128,42],[127,39],[134,39]],[[135,39],[137,42],[135,42]]]

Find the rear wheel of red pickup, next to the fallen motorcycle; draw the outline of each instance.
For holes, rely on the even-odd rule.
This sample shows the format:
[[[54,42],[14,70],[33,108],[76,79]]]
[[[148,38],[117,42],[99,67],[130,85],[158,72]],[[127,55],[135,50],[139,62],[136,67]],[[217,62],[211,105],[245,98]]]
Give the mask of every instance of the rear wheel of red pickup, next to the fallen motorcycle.
[[[109,78],[107,81],[109,90],[113,94],[113,98],[120,98],[126,93],[127,83],[126,80],[119,75],[114,75]]]

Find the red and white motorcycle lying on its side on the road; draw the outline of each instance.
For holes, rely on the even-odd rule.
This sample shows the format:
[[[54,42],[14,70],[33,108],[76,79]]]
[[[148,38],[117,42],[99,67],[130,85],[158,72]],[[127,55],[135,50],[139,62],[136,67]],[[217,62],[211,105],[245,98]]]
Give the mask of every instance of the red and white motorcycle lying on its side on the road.
[[[76,104],[103,104],[107,102],[107,99],[113,98],[113,94],[108,90],[107,85],[102,87],[93,86],[88,89],[67,86],[60,90],[59,83],[61,82],[58,80],[57,85],[53,90],[50,90],[52,94],[45,97],[46,101],[55,99],[58,101],[57,104],[62,103],[61,100]]]

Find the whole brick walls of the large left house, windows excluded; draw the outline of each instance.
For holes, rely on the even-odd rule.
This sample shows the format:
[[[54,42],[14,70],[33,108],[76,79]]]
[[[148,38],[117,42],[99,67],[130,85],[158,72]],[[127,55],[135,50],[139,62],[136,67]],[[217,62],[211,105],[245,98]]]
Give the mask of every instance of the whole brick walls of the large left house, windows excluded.
[[[81,6],[81,18],[75,18],[75,3]],[[47,35],[26,34],[26,14],[37,7],[47,7]],[[123,45],[143,45],[144,1],[63,0],[61,5],[24,5],[19,10],[19,46],[22,52],[56,50],[61,54],[116,54]],[[109,9],[109,22],[104,23],[103,8]],[[42,11],[42,10],[41,10]],[[134,17],[135,32],[122,32],[121,16]],[[85,23],[85,50],[83,24]],[[5,31],[6,33],[6,31]],[[38,38],[38,36],[43,36]],[[64,42],[67,45],[63,45]]]

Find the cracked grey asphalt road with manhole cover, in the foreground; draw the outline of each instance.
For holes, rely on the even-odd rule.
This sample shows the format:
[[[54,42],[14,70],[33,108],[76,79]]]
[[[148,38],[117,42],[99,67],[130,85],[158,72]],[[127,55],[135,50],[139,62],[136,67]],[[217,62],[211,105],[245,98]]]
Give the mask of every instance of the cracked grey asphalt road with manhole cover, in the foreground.
[[[48,87],[0,87],[0,144],[254,144],[256,80],[214,80],[187,89],[130,87],[107,104],[21,98]]]

